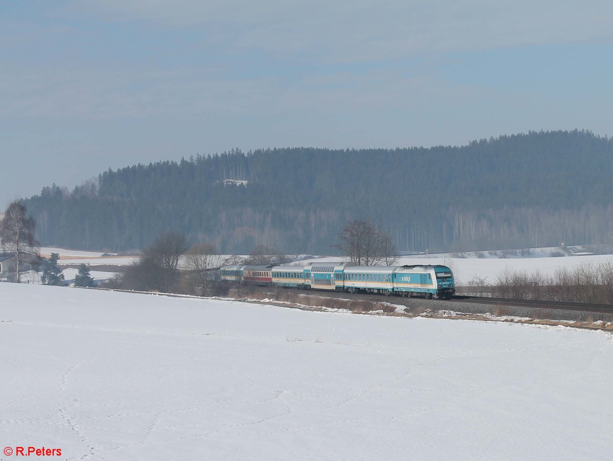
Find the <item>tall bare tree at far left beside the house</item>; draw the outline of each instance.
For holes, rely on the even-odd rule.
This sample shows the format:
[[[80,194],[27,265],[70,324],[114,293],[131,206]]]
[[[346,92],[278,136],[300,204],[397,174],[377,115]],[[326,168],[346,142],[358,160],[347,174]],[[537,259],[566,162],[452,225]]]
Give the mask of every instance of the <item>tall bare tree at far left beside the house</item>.
[[[26,216],[26,207],[18,200],[9,204],[0,223],[0,242],[4,250],[15,255],[17,283],[20,283],[24,263],[35,264],[39,259],[36,222]]]

